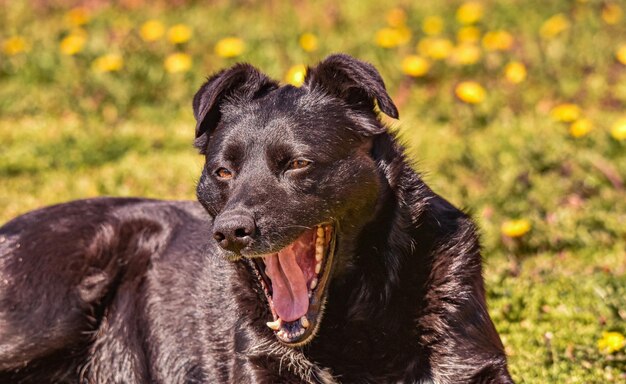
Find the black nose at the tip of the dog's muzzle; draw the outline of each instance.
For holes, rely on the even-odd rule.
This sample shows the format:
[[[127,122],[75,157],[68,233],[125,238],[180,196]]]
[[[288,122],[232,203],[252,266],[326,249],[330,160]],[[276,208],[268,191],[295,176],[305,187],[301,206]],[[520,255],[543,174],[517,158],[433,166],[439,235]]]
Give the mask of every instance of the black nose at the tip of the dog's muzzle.
[[[220,215],[213,223],[213,238],[220,247],[236,253],[250,244],[255,232],[254,219],[246,214]]]

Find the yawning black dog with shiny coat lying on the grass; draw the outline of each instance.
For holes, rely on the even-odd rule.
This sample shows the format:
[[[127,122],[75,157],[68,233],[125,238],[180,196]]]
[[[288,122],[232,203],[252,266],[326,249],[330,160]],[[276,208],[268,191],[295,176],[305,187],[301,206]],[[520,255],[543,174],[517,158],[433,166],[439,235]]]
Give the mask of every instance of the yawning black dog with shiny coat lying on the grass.
[[[386,132],[371,65],[333,55],[301,88],[235,65],[193,106],[202,206],[2,227],[0,382],[512,382],[475,226]]]

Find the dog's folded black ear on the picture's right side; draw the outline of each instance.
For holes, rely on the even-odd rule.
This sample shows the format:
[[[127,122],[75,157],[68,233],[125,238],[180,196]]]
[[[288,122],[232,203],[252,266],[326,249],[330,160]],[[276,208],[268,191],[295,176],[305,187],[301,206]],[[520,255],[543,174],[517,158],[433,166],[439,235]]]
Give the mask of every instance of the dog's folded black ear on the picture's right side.
[[[305,87],[321,88],[357,110],[373,111],[375,102],[387,116],[398,118],[398,109],[387,93],[382,77],[373,65],[345,54],[328,56],[309,68]]]

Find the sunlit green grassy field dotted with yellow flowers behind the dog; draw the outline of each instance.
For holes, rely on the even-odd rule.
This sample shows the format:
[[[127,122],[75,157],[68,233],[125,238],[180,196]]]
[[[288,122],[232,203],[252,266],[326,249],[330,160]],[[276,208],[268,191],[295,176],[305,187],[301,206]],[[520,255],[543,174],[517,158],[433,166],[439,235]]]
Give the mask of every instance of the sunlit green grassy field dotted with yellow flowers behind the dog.
[[[626,2],[65,3],[0,1],[0,223],[192,199],[208,74],[248,61],[297,84],[347,52],[380,69],[426,181],[479,223],[515,380],[626,382]]]

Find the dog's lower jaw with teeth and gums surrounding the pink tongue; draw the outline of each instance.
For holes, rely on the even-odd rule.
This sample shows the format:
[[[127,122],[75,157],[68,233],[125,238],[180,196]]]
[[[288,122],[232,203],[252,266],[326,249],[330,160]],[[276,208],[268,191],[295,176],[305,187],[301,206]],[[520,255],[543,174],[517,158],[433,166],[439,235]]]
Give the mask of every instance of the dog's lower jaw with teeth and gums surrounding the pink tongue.
[[[305,314],[292,321],[283,320],[274,303],[272,282],[268,273],[266,273],[268,265],[264,262],[264,260],[267,261],[268,256],[253,259],[246,258],[248,265],[259,282],[259,286],[262,288],[272,316],[271,321],[268,321],[266,326],[274,332],[276,338],[281,343],[287,346],[298,347],[307,344],[313,340],[317,333],[323,317],[333,267],[337,244],[336,232],[336,225],[334,224],[320,224],[315,228],[314,267],[306,282],[308,308]],[[277,257],[276,254],[272,256]]]

